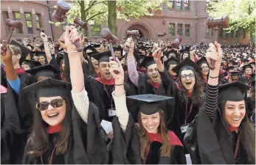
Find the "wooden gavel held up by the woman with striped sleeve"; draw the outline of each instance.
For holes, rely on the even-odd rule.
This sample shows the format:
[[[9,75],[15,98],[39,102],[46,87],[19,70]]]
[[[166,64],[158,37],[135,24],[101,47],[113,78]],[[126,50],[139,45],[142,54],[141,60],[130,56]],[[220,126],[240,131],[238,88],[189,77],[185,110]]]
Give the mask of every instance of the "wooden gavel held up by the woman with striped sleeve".
[[[218,40],[218,28],[227,28],[229,26],[229,17],[223,16],[223,17],[218,17],[218,18],[207,18],[207,29],[215,29],[215,41]],[[215,69],[215,60],[211,59],[211,65],[210,65],[210,70]]]

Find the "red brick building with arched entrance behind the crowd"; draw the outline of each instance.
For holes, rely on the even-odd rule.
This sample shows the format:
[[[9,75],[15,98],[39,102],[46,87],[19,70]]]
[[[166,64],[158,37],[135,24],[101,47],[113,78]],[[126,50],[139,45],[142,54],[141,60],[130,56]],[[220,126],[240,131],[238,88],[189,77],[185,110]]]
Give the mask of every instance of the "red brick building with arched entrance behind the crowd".
[[[173,40],[177,34],[183,37],[184,43],[198,43],[205,40],[206,43],[213,41],[215,32],[207,29],[207,2],[176,0],[169,1],[170,5],[162,4],[162,11],[153,12],[152,17],[143,17],[138,21],[131,18],[130,21],[117,20],[117,37],[125,37],[125,32],[131,29],[138,29],[142,37],[157,39],[157,33],[167,32],[166,40]],[[55,10],[56,1],[1,1],[1,38],[6,38],[10,32],[9,27],[4,23],[7,18],[20,20],[23,23],[23,32],[15,30],[13,38],[32,38],[39,36],[35,30],[36,26],[45,29],[47,35],[58,39],[63,32],[63,26],[50,24],[53,21],[52,12]],[[102,25],[89,26],[89,37],[101,39],[100,29]],[[220,43],[247,43],[248,35],[236,37],[235,34],[226,34],[220,30],[218,40]]]

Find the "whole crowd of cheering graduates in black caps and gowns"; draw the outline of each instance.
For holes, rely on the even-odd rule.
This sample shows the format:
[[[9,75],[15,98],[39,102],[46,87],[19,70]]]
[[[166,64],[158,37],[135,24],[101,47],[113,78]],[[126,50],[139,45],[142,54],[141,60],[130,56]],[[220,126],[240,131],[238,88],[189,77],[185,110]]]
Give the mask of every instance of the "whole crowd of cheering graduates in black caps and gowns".
[[[3,41],[1,164],[255,164],[255,44],[171,43]]]

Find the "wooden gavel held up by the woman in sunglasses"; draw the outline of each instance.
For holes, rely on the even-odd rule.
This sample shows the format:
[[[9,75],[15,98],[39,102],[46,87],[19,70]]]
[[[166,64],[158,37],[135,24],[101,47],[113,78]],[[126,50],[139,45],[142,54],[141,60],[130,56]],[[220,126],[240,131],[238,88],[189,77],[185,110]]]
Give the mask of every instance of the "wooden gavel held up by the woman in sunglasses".
[[[58,21],[58,22],[65,21],[66,26],[69,26],[69,23],[66,20],[66,13],[69,12],[69,10],[70,10],[69,4],[66,3],[66,1],[58,1],[57,2],[57,10],[55,10],[52,13],[52,18],[54,18],[55,21]],[[79,40],[76,40],[74,44],[77,47],[77,51],[79,51],[79,52],[83,51],[83,48],[80,47]]]

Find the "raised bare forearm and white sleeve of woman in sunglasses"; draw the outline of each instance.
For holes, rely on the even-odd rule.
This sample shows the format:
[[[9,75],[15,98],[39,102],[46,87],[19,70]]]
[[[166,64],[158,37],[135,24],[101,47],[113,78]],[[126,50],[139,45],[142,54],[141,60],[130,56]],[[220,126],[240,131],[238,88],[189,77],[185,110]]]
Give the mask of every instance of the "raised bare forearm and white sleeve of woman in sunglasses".
[[[83,68],[80,62],[80,54],[82,54],[82,52],[77,51],[77,48],[74,45],[76,40],[80,40],[80,44],[83,45],[77,29],[75,29],[74,26],[66,26],[65,45],[69,56],[72,98],[78,114],[80,114],[83,121],[87,122],[89,98],[84,88]]]

